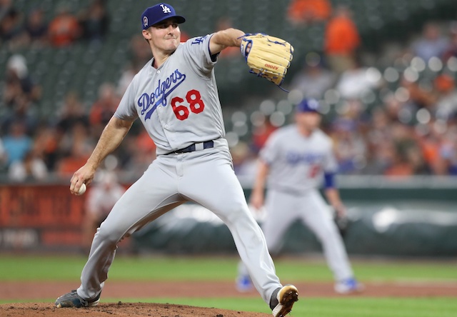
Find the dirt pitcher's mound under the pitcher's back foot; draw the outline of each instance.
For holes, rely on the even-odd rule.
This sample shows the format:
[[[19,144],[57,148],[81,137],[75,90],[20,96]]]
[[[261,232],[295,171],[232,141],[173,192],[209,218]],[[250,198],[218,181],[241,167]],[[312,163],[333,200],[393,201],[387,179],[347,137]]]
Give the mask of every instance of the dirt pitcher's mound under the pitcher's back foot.
[[[0,316],[16,317],[81,317],[90,313],[91,317],[266,317],[268,313],[229,311],[219,308],[203,308],[163,303],[100,303],[91,308],[55,308],[49,303],[7,303],[0,305]],[[89,314],[88,314],[89,316]]]

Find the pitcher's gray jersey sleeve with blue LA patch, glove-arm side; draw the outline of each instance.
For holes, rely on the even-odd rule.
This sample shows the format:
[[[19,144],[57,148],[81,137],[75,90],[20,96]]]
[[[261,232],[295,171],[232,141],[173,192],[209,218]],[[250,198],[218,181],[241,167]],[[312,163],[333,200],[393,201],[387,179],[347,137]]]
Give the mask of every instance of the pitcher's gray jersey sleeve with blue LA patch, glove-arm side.
[[[184,43],[184,59],[197,74],[209,74],[216,65],[218,54],[211,55],[209,40],[213,34],[194,37]]]

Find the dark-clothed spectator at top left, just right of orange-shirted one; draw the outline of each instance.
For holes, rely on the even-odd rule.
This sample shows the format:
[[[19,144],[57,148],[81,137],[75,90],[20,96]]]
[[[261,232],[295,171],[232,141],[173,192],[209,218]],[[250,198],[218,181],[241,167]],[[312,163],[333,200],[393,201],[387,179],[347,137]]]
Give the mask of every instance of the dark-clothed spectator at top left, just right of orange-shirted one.
[[[105,0],[93,0],[89,8],[81,12],[79,21],[84,39],[91,43],[103,41],[109,28],[109,14]]]

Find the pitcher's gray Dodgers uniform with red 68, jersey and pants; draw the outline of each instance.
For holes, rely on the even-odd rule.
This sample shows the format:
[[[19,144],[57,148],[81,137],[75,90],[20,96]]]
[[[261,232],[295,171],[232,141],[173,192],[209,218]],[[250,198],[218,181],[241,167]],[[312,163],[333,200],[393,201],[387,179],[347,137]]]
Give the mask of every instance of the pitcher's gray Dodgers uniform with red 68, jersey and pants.
[[[124,236],[185,201],[214,212],[228,226],[238,253],[266,303],[281,287],[261,228],[251,215],[224,139],[214,79],[211,36],[181,43],[159,69],[152,60],[129,85],[114,116],[140,118],[157,146],[157,158],[101,223],[77,292],[95,298]],[[213,141],[206,147],[202,142]],[[194,145],[195,151],[176,153]]]

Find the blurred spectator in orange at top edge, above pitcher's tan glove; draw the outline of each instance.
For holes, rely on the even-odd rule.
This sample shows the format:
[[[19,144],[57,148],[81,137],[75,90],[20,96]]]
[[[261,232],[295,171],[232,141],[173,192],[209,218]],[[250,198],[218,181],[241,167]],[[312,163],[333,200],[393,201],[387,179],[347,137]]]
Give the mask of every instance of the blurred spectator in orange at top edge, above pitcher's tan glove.
[[[292,0],[287,9],[288,19],[293,24],[312,24],[326,21],[331,14],[328,0]]]

